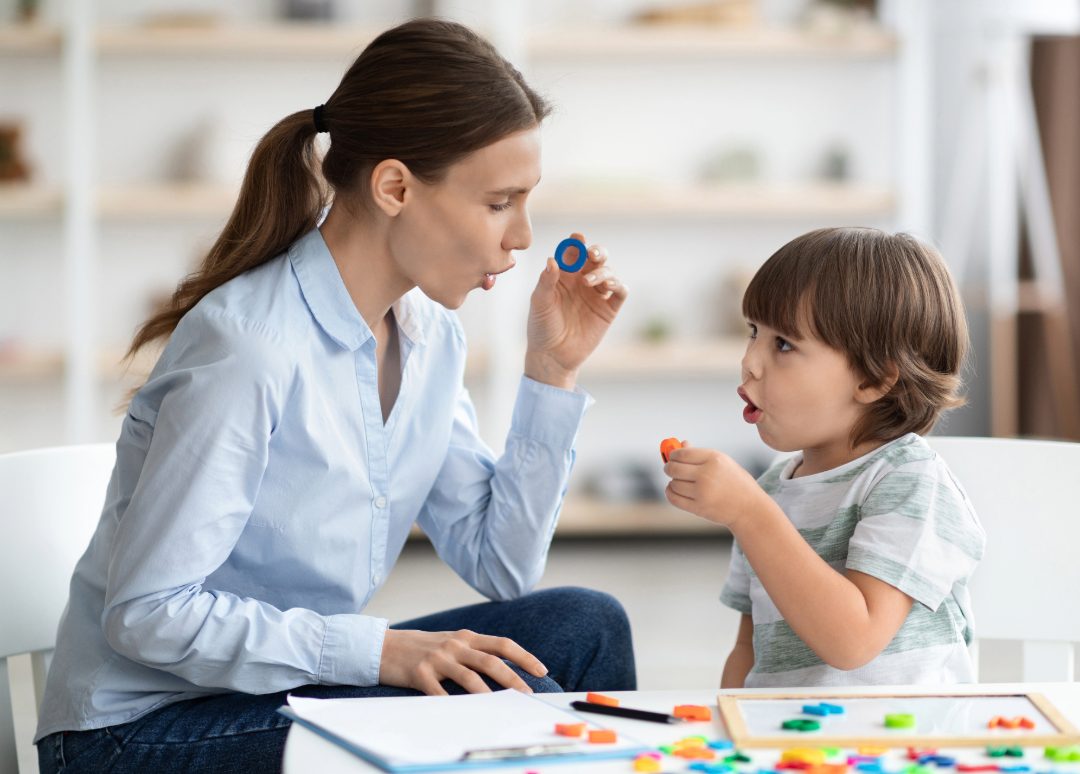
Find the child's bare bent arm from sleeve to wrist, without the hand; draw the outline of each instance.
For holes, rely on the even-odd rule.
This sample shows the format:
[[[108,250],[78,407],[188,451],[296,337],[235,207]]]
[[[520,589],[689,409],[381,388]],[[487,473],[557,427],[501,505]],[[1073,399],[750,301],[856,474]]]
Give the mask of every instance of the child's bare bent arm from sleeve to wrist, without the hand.
[[[841,574],[825,562],[764,491],[752,513],[731,525],[747,561],[780,614],[837,669],[856,669],[896,636],[913,599],[872,575]]]

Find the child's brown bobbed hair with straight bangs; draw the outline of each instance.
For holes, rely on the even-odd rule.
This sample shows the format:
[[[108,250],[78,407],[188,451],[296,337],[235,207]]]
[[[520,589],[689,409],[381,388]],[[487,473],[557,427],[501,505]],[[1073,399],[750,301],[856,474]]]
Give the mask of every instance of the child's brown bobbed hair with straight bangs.
[[[963,304],[941,255],[909,234],[837,228],[798,236],[754,275],[743,314],[793,338],[812,334],[872,385],[896,368],[896,383],[852,429],[852,446],[927,433],[963,405]]]

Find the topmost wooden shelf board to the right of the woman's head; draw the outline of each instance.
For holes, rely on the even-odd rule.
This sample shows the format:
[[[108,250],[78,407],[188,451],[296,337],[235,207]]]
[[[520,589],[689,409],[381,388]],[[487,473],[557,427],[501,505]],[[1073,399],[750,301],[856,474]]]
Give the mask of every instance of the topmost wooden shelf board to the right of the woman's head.
[[[795,28],[657,25],[573,27],[538,31],[529,38],[537,58],[612,56],[697,57],[890,57],[896,38],[879,28],[823,35]]]

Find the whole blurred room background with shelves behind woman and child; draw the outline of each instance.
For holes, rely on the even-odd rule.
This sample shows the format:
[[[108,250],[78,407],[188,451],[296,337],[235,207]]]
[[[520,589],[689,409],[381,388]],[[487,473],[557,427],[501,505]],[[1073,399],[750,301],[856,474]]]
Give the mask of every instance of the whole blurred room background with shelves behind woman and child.
[[[740,298],[793,236],[939,246],[974,344],[939,432],[1080,439],[1080,2],[0,0],[0,452],[116,438],[151,365],[119,365],[134,329],[210,246],[256,140],[430,14],[556,106],[534,245],[460,312],[496,450],[557,242],[607,245],[631,288],[581,376],[597,402],[544,584],[625,601],[644,688],[714,684],[730,647],[730,543],[663,503],[657,449],[770,460],[735,395]],[[418,540],[372,611],[476,599]]]

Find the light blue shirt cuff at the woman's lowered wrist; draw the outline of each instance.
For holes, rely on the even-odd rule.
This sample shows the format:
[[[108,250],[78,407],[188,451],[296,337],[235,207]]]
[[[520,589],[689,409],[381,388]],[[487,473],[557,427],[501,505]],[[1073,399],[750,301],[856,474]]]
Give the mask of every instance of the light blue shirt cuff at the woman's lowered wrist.
[[[372,615],[328,615],[319,660],[322,685],[378,685],[387,619]]]

